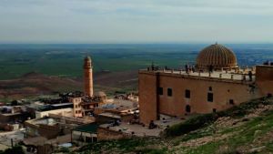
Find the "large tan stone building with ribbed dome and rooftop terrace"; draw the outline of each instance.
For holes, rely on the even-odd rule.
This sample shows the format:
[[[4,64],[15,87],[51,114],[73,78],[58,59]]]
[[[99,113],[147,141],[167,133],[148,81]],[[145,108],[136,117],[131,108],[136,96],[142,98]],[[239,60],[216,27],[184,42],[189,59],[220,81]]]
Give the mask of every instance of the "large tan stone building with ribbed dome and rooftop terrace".
[[[152,65],[139,70],[138,79],[139,118],[144,124],[162,116],[217,112],[273,94],[272,63],[240,68],[234,52],[217,43],[199,52],[195,67]]]

